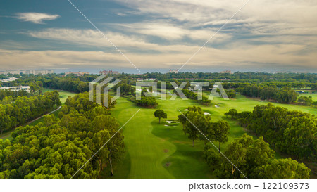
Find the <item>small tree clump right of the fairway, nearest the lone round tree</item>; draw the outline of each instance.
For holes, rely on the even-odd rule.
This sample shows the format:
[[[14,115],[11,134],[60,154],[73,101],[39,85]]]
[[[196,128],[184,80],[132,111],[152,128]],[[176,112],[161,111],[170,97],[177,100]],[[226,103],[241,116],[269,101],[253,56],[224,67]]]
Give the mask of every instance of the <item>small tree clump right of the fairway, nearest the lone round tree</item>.
[[[220,151],[220,144],[228,141],[230,129],[228,122],[225,120],[211,122],[211,115],[204,115],[199,107],[187,108],[185,113],[178,115],[178,120],[182,123],[184,133],[192,140],[192,146],[197,139],[201,139],[205,143],[208,140],[218,141]]]

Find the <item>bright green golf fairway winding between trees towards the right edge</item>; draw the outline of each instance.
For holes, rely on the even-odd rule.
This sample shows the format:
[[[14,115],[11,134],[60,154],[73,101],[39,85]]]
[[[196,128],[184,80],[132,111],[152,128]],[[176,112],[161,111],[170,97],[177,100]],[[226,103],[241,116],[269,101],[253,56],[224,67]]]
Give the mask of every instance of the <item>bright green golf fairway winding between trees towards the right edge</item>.
[[[156,107],[163,109],[167,114],[167,120],[177,120],[180,111],[184,111],[190,105],[197,105],[191,100],[177,98],[175,101],[157,100]],[[139,107],[128,101],[127,98],[119,98],[116,108],[111,113],[124,124]],[[245,96],[238,95],[236,99],[225,101],[223,98],[214,98],[209,107],[201,106],[204,112],[211,114],[212,121],[222,120],[224,113],[230,108],[236,108],[239,112],[251,111],[255,105],[266,105],[268,102],[255,101]],[[217,105],[215,107],[215,105]],[[317,109],[302,105],[286,105],[273,103],[289,110],[302,110],[306,113],[317,114]],[[113,179],[211,179],[215,178],[209,171],[204,161],[203,141],[192,141],[182,132],[182,124],[178,122],[168,123],[154,117],[156,109],[141,108],[135,117],[123,127],[125,136],[125,159],[119,163]],[[226,119],[227,120],[227,119]],[[242,136],[245,130],[235,121],[228,120],[230,135],[228,142]],[[218,146],[217,142],[214,142]],[[228,143],[222,145],[222,151]],[[277,158],[281,158],[277,155]]]

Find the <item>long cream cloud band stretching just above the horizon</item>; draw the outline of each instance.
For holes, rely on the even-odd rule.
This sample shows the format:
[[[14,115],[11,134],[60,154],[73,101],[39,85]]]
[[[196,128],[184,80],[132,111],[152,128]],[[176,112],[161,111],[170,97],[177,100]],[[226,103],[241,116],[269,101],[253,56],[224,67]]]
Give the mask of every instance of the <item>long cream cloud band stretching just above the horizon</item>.
[[[181,49],[179,47],[178,49]],[[295,44],[249,45],[232,44],[228,49],[201,50],[184,70],[201,68],[206,71],[225,68],[248,70],[278,70],[303,68],[316,71],[315,53],[295,54],[305,46]],[[192,56],[194,47],[179,53],[125,53],[142,71],[142,68],[180,68]],[[104,51],[19,51],[0,49],[0,66],[11,68],[133,68],[120,53]],[[274,65],[272,65],[274,63]],[[136,71],[137,72],[137,71]]]

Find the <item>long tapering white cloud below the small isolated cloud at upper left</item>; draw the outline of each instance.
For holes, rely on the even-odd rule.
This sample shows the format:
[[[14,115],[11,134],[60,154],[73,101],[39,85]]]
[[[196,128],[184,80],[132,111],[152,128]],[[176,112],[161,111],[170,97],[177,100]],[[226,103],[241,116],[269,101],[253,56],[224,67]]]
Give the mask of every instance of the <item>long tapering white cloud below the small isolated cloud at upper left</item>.
[[[31,37],[37,37],[40,39],[51,39],[63,42],[68,42],[69,44],[80,44],[90,47],[113,47],[106,38],[104,38],[96,30],[73,30],[73,29],[47,29],[36,32],[28,32]],[[146,39],[135,36],[128,36],[125,34],[120,34],[118,32],[104,32],[106,37],[110,39],[113,44],[118,46],[121,51],[194,51],[194,49],[199,49],[199,46],[186,46],[186,45],[170,45],[164,46],[154,43],[149,43]],[[113,50],[115,50],[113,48]]]

